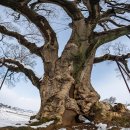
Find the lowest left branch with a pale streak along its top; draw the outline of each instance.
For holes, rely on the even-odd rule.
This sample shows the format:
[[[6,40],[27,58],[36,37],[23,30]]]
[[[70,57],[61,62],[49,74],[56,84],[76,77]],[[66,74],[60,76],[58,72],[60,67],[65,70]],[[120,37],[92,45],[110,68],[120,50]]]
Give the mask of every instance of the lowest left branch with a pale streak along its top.
[[[24,67],[24,65],[21,64],[19,61],[16,61],[14,59],[0,58],[0,64],[1,66],[7,67],[9,71],[13,71],[16,73],[19,72],[24,73],[31,80],[32,84],[37,88],[39,88],[40,86],[39,78],[35,75],[35,73],[31,69]]]

